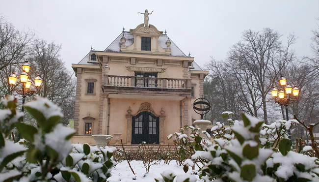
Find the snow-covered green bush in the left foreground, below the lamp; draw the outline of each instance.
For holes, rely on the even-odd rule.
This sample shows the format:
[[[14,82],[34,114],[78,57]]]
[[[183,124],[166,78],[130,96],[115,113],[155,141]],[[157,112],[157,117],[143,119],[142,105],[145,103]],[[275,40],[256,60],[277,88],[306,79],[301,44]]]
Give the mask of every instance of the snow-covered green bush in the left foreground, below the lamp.
[[[37,128],[21,122],[23,113],[15,110],[13,96],[1,102],[5,109],[0,110],[0,180],[106,182],[115,148],[72,145],[75,130],[59,122],[61,109],[46,98],[25,104]],[[5,139],[13,127],[24,138],[18,143]]]

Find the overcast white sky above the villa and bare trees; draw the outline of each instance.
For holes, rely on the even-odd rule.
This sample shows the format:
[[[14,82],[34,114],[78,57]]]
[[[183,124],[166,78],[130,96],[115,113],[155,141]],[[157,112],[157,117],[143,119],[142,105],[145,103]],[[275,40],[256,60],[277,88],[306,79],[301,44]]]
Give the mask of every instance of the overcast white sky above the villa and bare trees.
[[[299,38],[299,57],[310,55],[311,30],[318,29],[319,0],[0,0],[0,13],[14,24],[36,30],[39,38],[62,44],[61,58],[71,70],[89,51],[103,51],[122,31],[149,23],[200,65],[224,59],[243,30],[269,27]]]

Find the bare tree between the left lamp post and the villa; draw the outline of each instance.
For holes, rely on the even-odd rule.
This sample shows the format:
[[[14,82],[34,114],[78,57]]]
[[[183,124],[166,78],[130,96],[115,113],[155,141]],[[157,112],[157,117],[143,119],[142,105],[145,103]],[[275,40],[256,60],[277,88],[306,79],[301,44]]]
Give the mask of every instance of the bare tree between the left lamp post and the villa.
[[[32,66],[31,78],[34,79],[39,74],[43,79],[38,94],[62,108],[64,113],[62,121],[67,124],[68,120],[73,118],[76,80],[61,60],[60,50],[61,45],[38,40],[33,44],[28,60]]]

